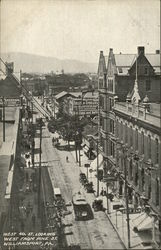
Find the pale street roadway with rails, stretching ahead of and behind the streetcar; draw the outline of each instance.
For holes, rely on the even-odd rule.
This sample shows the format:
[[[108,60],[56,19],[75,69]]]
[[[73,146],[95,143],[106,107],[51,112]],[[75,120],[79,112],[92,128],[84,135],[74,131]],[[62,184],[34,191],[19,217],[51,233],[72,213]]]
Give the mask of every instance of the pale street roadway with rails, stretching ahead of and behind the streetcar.
[[[42,159],[48,162],[52,185],[60,188],[66,203],[71,202],[72,195],[80,190],[91,205],[95,197],[94,194],[87,194],[79,182],[81,168],[75,163],[71,152],[53,147],[53,135],[47,128],[43,129]],[[66,156],[68,156],[68,162],[66,162]],[[82,249],[124,249],[106,214],[102,211],[93,211],[93,214],[94,219],[87,221],[75,221],[74,214],[68,215],[73,234],[67,236],[67,241],[68,237],[70,241],[72,238],[73,244],[79,244]]]

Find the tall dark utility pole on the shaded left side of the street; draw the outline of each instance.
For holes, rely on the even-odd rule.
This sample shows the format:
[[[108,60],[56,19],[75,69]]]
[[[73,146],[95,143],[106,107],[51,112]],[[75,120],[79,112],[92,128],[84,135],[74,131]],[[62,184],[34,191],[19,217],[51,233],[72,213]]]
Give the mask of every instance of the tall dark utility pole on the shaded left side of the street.
[[[42,118],[40,118],[40,151],[39,151],[39,184],[38,184],[38,216],[40,217],[40,189],[41,189],[41,144],[42,144]]]

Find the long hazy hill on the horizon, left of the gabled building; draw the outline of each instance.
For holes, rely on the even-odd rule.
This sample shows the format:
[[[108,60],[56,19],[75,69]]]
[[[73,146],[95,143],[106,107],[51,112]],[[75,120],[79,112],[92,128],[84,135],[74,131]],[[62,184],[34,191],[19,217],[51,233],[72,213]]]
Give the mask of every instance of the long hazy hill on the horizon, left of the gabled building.
[[[77,60],[60,60],[55,57],[38,56],[27,53],[2,53],[1,57],[7,62],[14,62],[14,71],[29,73],[49,73],[63,69],[65,73],[96,73],[97,63],[85,63]]]

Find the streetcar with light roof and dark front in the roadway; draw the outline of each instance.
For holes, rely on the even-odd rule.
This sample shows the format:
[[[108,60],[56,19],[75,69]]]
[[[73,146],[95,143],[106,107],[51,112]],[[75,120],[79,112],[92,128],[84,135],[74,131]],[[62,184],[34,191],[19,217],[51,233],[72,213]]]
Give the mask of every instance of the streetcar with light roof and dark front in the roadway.
[[[86,198],[80,192],[73,195],[72,199],[75,220],[87,220],[90,218],[90,206],[86,201]]]

